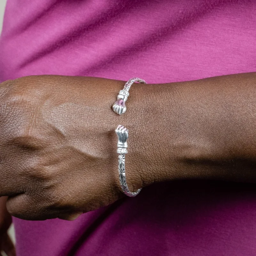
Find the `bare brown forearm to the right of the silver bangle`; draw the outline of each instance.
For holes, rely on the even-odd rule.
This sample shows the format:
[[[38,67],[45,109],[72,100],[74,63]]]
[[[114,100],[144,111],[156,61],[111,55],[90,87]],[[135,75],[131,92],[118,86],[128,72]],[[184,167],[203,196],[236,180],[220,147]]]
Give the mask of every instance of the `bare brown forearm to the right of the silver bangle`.
[[[256,182],[255,84],[256,73],[247,73],[136,85],[126,117],[135,120],[127,165],[136,165],[144,185],[191,178]]]

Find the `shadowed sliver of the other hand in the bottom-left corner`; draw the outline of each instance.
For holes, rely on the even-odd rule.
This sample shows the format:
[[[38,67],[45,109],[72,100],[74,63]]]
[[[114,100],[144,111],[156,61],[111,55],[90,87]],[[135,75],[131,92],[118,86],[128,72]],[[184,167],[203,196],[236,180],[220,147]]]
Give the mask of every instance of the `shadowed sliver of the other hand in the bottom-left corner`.
[[[7,256],[15,256],[14,244],[7,233],[12,224],[12,216],[6,210],[6,200],[5,196],[0,198],[0,251],[5,252]]]

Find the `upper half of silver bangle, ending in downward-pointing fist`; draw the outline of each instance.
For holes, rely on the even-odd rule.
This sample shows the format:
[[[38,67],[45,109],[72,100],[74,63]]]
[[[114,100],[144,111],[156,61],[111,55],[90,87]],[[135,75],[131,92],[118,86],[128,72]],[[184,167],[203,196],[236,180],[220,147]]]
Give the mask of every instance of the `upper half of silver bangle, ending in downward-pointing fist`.
[[[117,100],[112,106],[114,112],[116,112],[118,115],[122,115],[126,111],[125,102],[128,99],[129,90],[132,84],[135,82],[139,82],[141,84],[147,84],[143,79],[134,77],[124,85],[124,89],[119,92],[119,94],[117,95]]]

